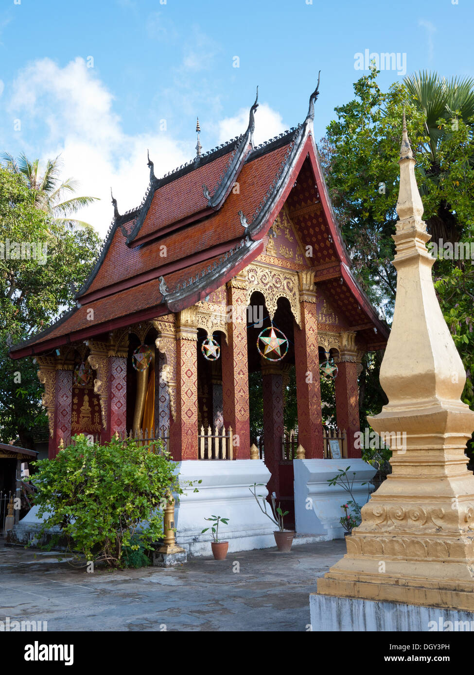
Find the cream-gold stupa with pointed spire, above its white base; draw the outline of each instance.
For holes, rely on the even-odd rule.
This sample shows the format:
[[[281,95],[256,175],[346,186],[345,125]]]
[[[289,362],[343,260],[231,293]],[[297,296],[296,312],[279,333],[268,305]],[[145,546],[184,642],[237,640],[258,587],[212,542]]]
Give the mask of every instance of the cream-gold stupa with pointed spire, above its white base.
[[[465,371],[435,296],[403,126],[397,294],[380,370],[389,403],[369,418],[379,434],[402,434],[403,447],[318,593],[474,611],[474,477],[464,454],[474,412],[460,400]]]

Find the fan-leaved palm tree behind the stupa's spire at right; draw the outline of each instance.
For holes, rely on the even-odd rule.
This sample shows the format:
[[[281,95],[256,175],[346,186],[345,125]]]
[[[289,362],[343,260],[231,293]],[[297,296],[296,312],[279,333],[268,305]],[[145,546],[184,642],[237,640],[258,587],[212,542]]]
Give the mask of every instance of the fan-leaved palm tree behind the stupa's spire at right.
[[[404,78],[404,84],[412,102],[425,116],[425,131],[429,140],[422,150],[429,155],[430,160],[426,175],[439,183],[445,178],[439,157],[440,144],[448,132],[437,122],[460,117],[472,130],[472,120],[469,118],[474,115],[474,80],[456,77],[447,82],[437,73],[423,71]],[[473,166],[474,155],[469,156],[467,162]],[[427,225],[433,240],[455,242],[459,238],[460,223],[456,213],[452,213],[452,205],[445,200],[440,202],[437,213],[427,219]]]

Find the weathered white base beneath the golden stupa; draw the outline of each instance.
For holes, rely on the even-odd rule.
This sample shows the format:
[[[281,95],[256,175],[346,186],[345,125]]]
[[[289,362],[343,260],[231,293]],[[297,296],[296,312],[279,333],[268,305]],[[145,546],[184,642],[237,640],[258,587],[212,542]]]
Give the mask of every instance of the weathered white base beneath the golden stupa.
[[[310,594],[313,631],[474,631],[474,613],[405,603]]]

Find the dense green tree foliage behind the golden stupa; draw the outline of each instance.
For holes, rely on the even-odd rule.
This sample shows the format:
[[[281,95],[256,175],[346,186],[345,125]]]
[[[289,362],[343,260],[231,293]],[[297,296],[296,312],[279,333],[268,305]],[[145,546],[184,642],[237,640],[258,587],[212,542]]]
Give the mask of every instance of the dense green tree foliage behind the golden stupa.
[[[371,69],[354,84],[356,98],[337,107],[337,119],[320,144],[329,192],[360,284],[390,317],[396,292],[391,264],[397,221],[402,111],[417,165],[415,173],[430,234],[453,242],[474,235],[474,84],[419,74],[387,92]],[[474,405],[474,267],[442,252],[433,267],[435,290],[465,369],[463,401]],[[402,355],[409,359],[410,354]],[[379,363],[364,364],[361,407],[378,412],[386,401],[377,391]],[[362,398],[361,396],[361,398]],[[378,408],[378,410],[377,410]]]

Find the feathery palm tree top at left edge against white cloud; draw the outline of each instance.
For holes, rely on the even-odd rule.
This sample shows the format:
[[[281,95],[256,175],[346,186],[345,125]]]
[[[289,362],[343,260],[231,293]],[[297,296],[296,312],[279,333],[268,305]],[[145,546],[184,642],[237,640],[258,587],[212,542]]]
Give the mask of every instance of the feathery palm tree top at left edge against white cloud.
[[[73,218],[72,215],[91,204],[97,197],[65,198],[68,193],[74,194],[78,182],[72,178],[61,180],[62,162],[59,155],[55,159],[48,159],[43,175],[40,172],[39,159],[30,161],[24,154],[15,159],[9,153],[3,153],[2,157],[15,173],[24,176],[28,188],[34,192],[34,201],[39,209],[68,227],[91,227],[89,223]]]

